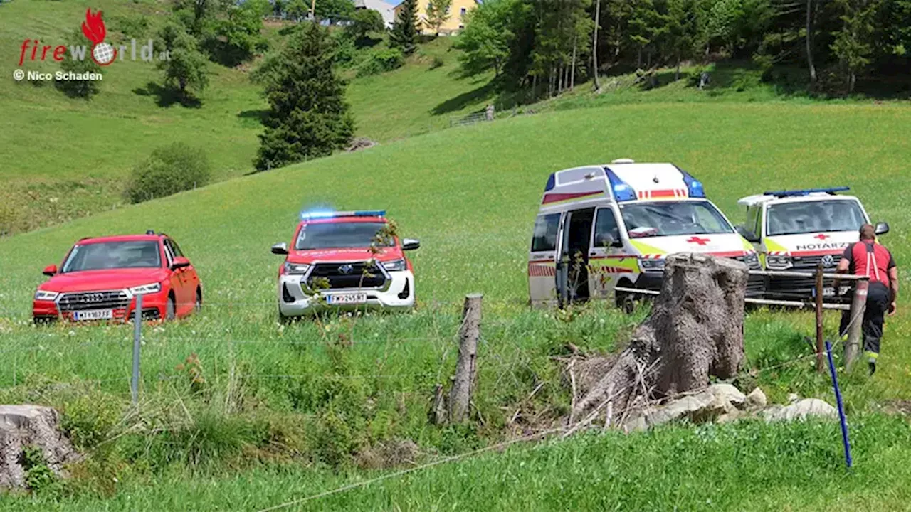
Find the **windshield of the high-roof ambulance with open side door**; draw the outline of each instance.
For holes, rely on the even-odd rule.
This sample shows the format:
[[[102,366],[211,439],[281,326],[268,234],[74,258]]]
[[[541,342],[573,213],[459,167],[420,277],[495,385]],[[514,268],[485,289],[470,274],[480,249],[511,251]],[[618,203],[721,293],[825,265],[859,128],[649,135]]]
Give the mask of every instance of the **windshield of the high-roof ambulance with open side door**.
[[[630,238],[734,232],[707,200],[623,204],[620,215]]]

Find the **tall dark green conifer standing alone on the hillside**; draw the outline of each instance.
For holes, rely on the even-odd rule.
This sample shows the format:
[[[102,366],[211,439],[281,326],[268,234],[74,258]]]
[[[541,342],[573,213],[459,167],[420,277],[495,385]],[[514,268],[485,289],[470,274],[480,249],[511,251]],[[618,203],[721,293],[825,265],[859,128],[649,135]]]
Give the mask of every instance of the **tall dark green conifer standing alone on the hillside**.
[[[256,169],[328,156],[351,140],[354,121],[344,100],[345,83],[333,71],[334,45],[326,28],[308,23],[271,61],[262,77],[270,112]]]

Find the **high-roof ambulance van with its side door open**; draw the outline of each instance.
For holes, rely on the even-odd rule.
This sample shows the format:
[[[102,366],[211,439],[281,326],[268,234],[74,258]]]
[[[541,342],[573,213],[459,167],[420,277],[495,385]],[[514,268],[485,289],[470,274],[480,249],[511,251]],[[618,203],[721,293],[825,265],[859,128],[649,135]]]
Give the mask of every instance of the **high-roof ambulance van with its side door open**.
[[[660,289],[664,259],[675,252],[759,269],[750,242],[673,164],[619,159],[559,170],[548,178],[528,252],[531,303],[615,298],[629,309],[637,297],[614,287]],[[751,279],[748,294],[762,292],[763,279]]]

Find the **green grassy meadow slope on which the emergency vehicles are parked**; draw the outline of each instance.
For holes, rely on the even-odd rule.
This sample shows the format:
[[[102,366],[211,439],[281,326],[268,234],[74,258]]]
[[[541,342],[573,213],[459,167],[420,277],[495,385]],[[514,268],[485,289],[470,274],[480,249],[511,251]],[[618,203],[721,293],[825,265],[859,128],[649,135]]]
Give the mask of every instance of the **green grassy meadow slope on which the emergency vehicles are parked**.
[[[757,190],[846,184],[875,220],[890,222],[885,243],[897,261],[906,261],[911,213],[903,205],[911,183],[904,166],[911,142],[902,127],[909,121],[911,110],[895,105],[650,104],[560,111],[409,138],[0,240],[0,350],[12,361],[0,368],[0,385],[8,386],[2,398],[55,404],[75,418],[68,425],[91,434],[80,437],[87,446],[121,435],[105,445],[112,447],[95,452],[100,462],[86,470],[95,478],[87,477],[76,497],[63,502],[74,508],[93,507],[93,500],[111,493],[124,500],[114,502],[117,508],[133,507],[133,499],[186,508],[188,496],[200,509],[238,503],[260,508],[364,477],[299,465],[376,467],[377,457],[394,458],[382,446],[403,438],[417,443],[420,460],[464,453],[556,420],[568,406],[568,392],[551,356],[568,342],[583,351],[611,349],[641,318],[603,304],[570,317],[528,311],[527,238],[549,172],[619,157],[672,161],[702,179],[733,219],[736,200]],[[875,177],[860,179],[869,169]],[[322,326],[276,322],[279,260],[268,247],[286,241],[297,212],[315,205],[385,208],[404,236],[421,239],[416,312],[339,318]],[[120,422],[128,410],[129,327],[35,329],[29,324],[30,298],[42,280],[40,269],[59,261],[78,238],[147,229],[179,241],[200,270],[208,304],[188,321],[146,330],[146,402]],[[902,282],[908,285],[904,275]],[[429,426],[430,392],[454,364],[459,302],[475,291],[485,293],[476,397],[483,421],[465,428]],[[855,419],[891,400],[911,398],[911,347],[903,343],[911,323],[899,307],[903,311],[887,323],[875,378],[852,374],[844,380]],[[829,333],[836,321],[827,318]],[[806,314],[752,314],[746,343],[756,372],[742,384],[758,382],[778,401],[791,391],[831,400],[827,377],[815,374],[812,358],[806,358],[801,338],[812,330]],[[337,342],[340,332],[352,346]],[[194,391],[186,367],[179,366],[192,353],[206,375],[202,391]],[[804,359],[794,363],[799,357]],[[540,383],[542,390],[528,398]],[[512,423],[517,409],[522,418]],[[852,424],[865,456],[858,457],[863,469],[850,485],[841,484],[832,425],[742,425],[722,429],[724,434],[711,438],[712,449],[694,449],[702,441],[674,429],[629,441],[574,440],[554,451],[390,480],[379,490],[372,487],[367,503],[433,508],[431,497],[459,482],[447,496],[469,508],[513,502],[534,507],[538,501],[531,497],[556,504],[567,489],[576,489],[568,503],[578,507],[599,507],[592,500],[605,497],[605,507],[666,508],[676,502],[693,509],[711,506],[704,502],[711,471],[717,478],[708,489],[721,496],[722,508],[862,502],[888,508],[903,503],[904,495],[873,495],[871,489],[906,479],[894,463],[911,456],[907,425],[869,417]],[[652,453],[667,456],[646,456]],[[608,454],[616,458],[606,461]],[[671,454],[690,455],[684,460]],[[195,469],[185,469],[188,462]],[[605,464],[622,465],[640,478],[623,476],[618,466],[605,470]],[[250,466],[259,469],[237,472]],[[567,474],[568,467],[578,467],[578,473]],[[571,475],[587,486],[571,484]],[[747,475],[755,482],[746,482]],[[113,477],[121,484],[112,484]],[[743,486],[752,497],[761,488],[782,492],[738,501]],[[579,490],[589,487],[595,489],[591,497]],[[518,499],[523,489],[528,497]],[[37,503],[47,506],[45,499],[57,495],[48,496]],[[352,507],[356,501],[348,500],[359,496],[332,503]]]

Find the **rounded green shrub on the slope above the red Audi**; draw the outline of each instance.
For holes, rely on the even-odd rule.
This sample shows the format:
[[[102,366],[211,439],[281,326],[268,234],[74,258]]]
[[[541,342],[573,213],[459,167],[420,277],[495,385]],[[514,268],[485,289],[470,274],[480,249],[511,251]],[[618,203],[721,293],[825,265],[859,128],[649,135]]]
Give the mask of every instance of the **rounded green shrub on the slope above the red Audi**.
[[[163,198],[209,182],[210,163],[201,148],[182,142],[155,149],[140,162],[129,178],[127,199],[138,203]]]

